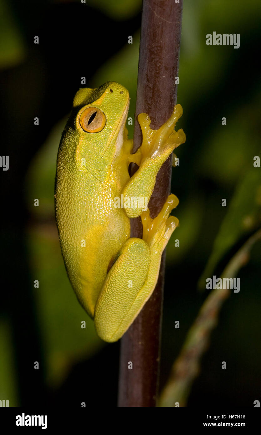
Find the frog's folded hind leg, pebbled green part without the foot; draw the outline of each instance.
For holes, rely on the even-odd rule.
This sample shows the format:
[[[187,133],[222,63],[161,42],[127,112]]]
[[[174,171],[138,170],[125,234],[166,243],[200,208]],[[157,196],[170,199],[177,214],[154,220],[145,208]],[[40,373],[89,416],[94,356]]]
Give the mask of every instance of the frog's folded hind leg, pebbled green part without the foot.
[[[95,307],[94,322],[102,340],[117,341],[138,314],[135,299],[146,281],[151,261],[148,244],[128,239],[109,270]]]

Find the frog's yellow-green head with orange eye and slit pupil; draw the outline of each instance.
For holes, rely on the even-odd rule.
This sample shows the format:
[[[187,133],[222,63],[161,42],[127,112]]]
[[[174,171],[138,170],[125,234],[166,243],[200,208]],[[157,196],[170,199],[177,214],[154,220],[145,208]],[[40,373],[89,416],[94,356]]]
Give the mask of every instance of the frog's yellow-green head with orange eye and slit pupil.
[[[128,110],[129,92],[116,82],[80,89],[73,100],[71,117],[80,138],[78,151],[97,157],[118,154]]]

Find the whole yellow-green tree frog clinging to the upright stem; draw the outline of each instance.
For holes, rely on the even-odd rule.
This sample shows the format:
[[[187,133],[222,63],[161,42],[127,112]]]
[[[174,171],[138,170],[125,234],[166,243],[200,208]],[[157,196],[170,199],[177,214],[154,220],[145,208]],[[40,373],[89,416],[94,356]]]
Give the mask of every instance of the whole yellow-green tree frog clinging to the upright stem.
[[[79,303],[107,342],[122,337],[152,295],[162,252],[178,226],[170,215],[178,205],[174,194],[153,219],[146,204],[160,167],[185,142],[183,130],[174,129],[182,107],[175,105],[157,130],[148,114],[139,114],[142,144],[133,153],[129,102],[117,82],[80,88],[57,155],[55,216],[63,260]],[[130,175],[132,163],[138,169]],[[142,238],[131,237],[131,219],[139,216]]]

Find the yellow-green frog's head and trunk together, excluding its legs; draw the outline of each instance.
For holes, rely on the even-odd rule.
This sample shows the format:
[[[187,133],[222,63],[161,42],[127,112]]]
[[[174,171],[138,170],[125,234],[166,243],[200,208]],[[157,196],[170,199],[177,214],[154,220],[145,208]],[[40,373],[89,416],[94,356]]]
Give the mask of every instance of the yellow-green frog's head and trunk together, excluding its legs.
[[[91,316],[107,271],[130,237],[129,218],[123,208],[114,208],[126,180],[116,180],[113,171],[128,107],[128,91],[114,82],[79,90],[59,145],[59,240],[73,289]]]

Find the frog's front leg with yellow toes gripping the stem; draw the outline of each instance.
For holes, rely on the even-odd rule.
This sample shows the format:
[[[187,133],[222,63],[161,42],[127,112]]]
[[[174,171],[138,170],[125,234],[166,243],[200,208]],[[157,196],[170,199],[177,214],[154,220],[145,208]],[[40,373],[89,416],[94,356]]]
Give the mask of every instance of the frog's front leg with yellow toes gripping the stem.
[[[124,208],[129,218],[138,217],[142,211],[144,201],[149,201],[162,164],[167,160],[178,145],[185,142],[183,130],[175,131],[177,120],[182,116],[182,107],[177,104],[171,117],[159,128],[150,128],[150,118],[147,114],[139,114],[138,121],[142,130],[142,145],[136,154],[130,155],[129,161],[139,165],[138,171],[130,178],[123,189]],[[132,198],[140,198],[132,201]],[[146,200],[145,200],[146,198]]]

